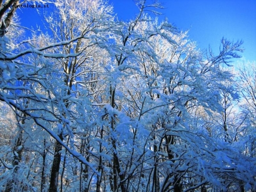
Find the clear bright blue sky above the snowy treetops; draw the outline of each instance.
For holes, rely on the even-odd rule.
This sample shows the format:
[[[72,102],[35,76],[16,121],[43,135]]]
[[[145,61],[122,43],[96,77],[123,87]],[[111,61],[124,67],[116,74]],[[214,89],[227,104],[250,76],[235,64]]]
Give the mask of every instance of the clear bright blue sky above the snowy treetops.
[[[93,1],[93,0],[92,0]],[[150,0],[151,1],[151,0]],[[189,39],[200,49],[210,47],[218,53],[222,37],[243,40],[243,59],[256,61],[256,0],[159,0],[166,9],[159,10],[182,31],[189,30]],[[138,13],[133,0],[109,0],[119,19],[130,20]],[[51,5],[50,5],[51,6]],[[51,8],[50,8],[51,9]],[[42,10],[42,11],[41,11]],[[44,9],[18,10],[26,27],[42,23]],[[22,12],[21,12],[22,11]]]

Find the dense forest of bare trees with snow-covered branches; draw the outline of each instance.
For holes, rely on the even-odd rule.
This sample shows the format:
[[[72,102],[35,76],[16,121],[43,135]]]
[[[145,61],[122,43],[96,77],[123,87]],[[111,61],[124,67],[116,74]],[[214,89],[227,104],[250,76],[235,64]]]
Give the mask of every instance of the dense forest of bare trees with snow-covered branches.
[[[53,7],[47,30],[20,26],[24,2]],[[24,2],[0,0],[0,191],[256,191],[242,41],[202,51],[156,1],[127,22],[105,0]]]

